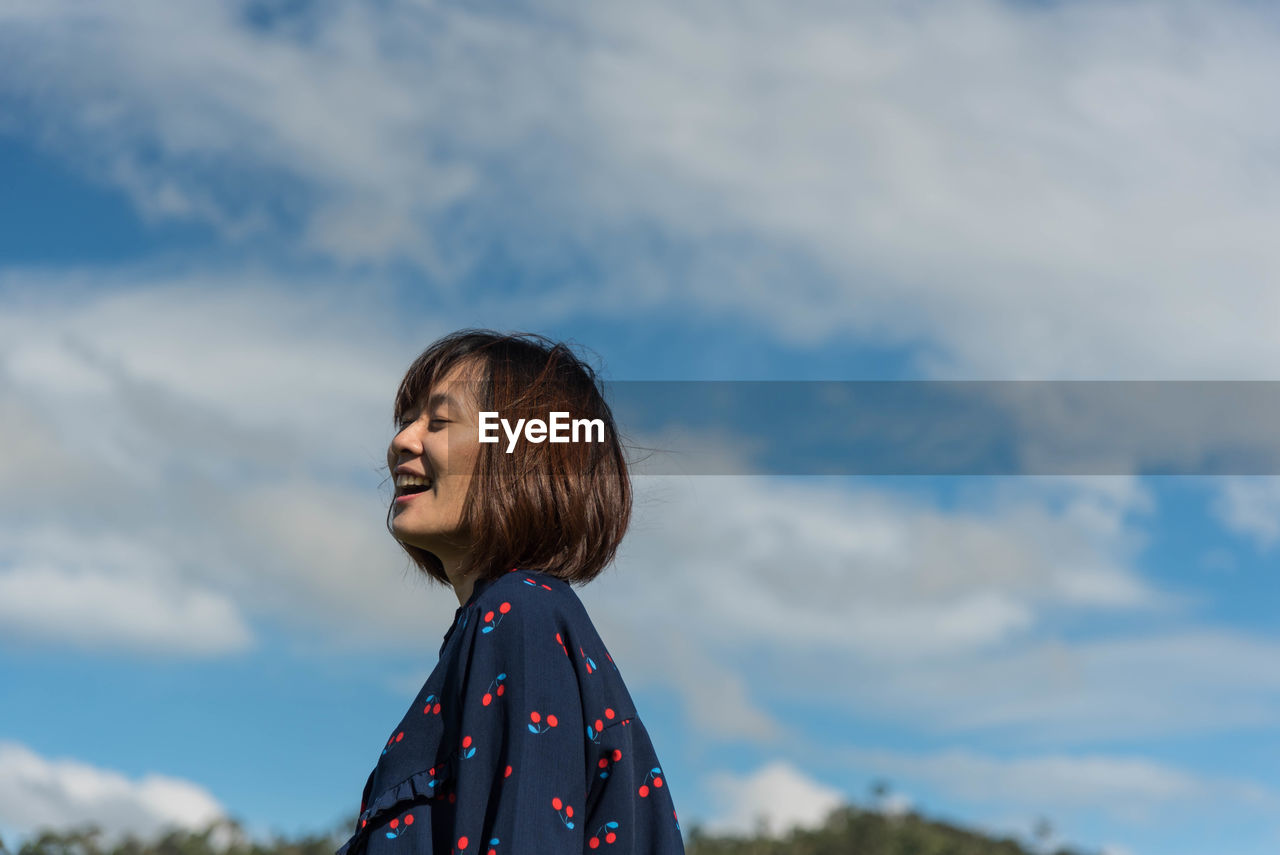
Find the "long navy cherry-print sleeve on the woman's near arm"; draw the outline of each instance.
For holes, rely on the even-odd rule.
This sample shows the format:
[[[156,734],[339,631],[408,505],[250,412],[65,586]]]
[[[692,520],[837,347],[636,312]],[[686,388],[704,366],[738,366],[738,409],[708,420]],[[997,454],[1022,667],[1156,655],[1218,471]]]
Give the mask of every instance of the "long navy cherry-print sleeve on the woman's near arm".
[[[539,587],[511,590],[485,603],[468,631],[448,851],[582,851],[582,699],[554,600]]]

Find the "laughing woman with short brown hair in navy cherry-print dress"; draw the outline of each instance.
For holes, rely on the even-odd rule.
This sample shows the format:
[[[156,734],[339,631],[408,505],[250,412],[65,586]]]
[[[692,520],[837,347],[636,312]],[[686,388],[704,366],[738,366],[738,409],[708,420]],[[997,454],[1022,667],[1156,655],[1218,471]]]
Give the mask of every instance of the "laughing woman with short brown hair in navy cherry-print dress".
[[[410,366],[394,410],[388,527],[461,605],[338,854],[684,852],[653,744],[570,586],[613,559],[631,516],[595,374],[543,337],[462,330]],[[483,412],[599,429],[483,443]]]

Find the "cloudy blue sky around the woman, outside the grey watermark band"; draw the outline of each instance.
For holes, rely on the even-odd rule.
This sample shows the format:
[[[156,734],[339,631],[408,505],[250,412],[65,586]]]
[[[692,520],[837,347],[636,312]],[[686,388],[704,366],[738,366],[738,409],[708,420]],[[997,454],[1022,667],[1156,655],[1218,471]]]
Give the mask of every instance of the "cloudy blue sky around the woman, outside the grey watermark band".
[[[457,608],[383,468],[454,329],[611,381],[1275,379],[1277,47],[1243,0],[0,4],[0,836],[355,814]],[[579,596],[686,829],[1280,847],[1274,476],[636,497]]]

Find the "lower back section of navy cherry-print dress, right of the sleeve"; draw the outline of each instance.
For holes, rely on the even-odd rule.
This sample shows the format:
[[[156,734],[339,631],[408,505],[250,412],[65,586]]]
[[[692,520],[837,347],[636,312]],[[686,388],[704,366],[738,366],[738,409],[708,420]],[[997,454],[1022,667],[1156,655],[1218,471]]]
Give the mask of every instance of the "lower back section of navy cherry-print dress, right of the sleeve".
[[[585,851],[684,855],[671,787],[644,723],[627,718],[604,728],[593,756]]]

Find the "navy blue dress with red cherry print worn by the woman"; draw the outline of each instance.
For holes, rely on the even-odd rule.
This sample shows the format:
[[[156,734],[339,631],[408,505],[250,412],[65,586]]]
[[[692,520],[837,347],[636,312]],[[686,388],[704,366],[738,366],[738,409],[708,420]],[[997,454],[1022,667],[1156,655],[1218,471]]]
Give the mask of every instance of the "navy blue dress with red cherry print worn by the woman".
[[[631,695],[573,589],[476,580],[338,855],[684,855]]]

